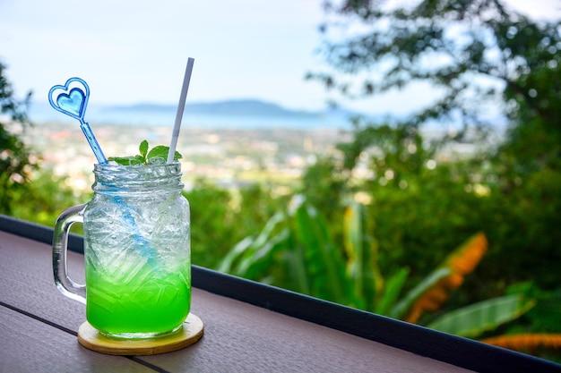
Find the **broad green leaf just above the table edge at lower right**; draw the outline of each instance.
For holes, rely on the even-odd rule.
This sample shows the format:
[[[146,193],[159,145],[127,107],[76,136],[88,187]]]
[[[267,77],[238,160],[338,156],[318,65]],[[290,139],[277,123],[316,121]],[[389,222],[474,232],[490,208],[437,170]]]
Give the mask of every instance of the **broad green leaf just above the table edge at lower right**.
[[[473,338],[519,318],[535,303],[533,300],[525,301],[522,294],[505,295],[448,312],[427,327],[444,333]]]

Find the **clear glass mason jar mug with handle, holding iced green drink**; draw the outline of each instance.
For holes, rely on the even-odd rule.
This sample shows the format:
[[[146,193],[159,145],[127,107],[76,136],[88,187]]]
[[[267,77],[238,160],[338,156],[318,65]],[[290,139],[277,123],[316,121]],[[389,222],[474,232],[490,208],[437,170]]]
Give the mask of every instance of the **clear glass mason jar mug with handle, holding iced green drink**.
[[[180,164],[95,165],[94,174],[93,199],[69,208],[56,223],[57,287],[85,301],[88,322],[105,335],[150,338],[176,331],[191,303],[190,215]],[[85,298],[65,265],[65,234],[81,219]]]

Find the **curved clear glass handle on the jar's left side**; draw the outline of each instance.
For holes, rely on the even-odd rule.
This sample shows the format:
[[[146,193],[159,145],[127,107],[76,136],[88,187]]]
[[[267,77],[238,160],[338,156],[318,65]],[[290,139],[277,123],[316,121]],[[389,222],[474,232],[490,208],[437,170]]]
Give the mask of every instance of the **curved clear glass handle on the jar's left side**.
[[[68,277],[66,252],[68,250],[68,231],[74,223],[83,224],[83,211],[86,205],[67,208],[56,219],[53,237],[53,272],[55,284],[60,292],[68,298],[86,304],[86,285],[76,284]]]

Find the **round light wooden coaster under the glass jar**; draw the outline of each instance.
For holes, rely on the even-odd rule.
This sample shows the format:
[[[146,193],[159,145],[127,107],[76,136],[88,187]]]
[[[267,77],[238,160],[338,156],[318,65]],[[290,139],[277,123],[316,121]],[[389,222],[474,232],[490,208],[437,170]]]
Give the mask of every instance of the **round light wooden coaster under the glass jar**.
[[[203,336],[203,330],[203,321],[192,313],[177,333],[151,339],[110,338],[86,321],[78,329],[78,342],[90,350],[110,355],[155,355],[181,350],[197,342]]]

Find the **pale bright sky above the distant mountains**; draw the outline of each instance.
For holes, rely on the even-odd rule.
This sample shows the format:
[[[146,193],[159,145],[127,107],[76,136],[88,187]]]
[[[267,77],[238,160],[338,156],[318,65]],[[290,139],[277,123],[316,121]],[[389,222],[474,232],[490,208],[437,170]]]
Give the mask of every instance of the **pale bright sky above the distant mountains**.
[[[561,0],[508,0],[532,17],[561,18]],[[320,110],[328,96],[306,72],[323,61],[323,0],[0,0],[0,62],[18,97],[81,77],[91,105],[177,105],[186,61],[187,100],[258,98]],[[419,88],[423,89],[423,88]],[[342,102],[372,114],[402,114],[422,91]]]

